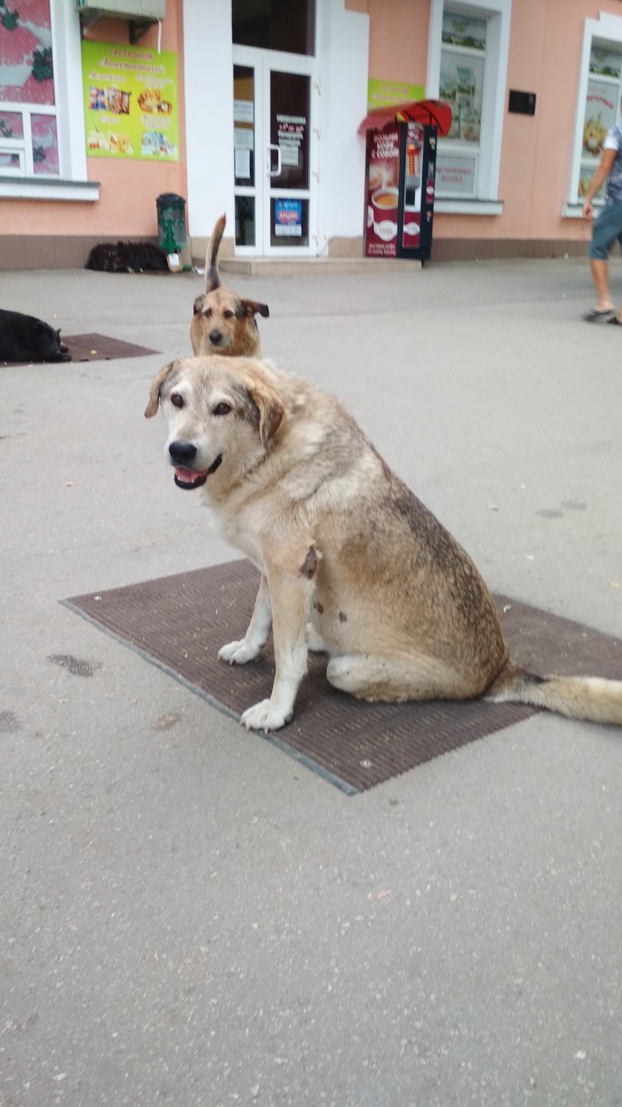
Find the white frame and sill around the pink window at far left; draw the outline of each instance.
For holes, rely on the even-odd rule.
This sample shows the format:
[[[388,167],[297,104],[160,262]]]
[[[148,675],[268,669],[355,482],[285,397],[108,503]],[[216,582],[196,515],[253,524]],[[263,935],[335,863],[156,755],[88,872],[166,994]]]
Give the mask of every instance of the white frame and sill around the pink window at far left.
[[[54,104],[1,101],[6,112],[21,112],[23,138],[3,139],[2,148],[19,147],[23,173],[0,169],[0,198],[97,200],[98,183],[86,179],[86,146],[82,91],[80,15],[68,0],[50,0]],[[59,175],[36,174],[32,163],[31,115],[54,115]]]

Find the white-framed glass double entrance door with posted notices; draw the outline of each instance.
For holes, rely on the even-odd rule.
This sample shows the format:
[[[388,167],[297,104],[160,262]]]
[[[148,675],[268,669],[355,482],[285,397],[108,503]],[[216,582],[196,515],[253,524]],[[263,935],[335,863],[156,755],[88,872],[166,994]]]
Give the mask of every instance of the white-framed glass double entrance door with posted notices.
[[[235,254],[317,254],[317,62],[233,46]]]

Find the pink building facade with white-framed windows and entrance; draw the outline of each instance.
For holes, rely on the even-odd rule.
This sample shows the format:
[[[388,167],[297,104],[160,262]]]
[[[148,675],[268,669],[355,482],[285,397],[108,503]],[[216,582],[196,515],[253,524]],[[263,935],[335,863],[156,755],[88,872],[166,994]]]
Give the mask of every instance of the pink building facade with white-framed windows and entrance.
[[[414,95],[452,107],[433,258],[583,254],[621,87],[621,0],[166,0],[140,23],[8,2],[0,268],[155,239],[161,193],[187,200],[194,259],[223,210],[231,256],[360,256],[358,126]]]

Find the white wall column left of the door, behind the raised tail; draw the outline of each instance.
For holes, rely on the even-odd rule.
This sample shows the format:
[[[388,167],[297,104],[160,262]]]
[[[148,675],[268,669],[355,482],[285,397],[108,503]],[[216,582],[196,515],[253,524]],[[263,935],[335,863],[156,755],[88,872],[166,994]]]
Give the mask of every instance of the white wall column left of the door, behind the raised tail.
[[[207,237],[226,213],[234,237],[231,0],[183,0],[188,226]]]

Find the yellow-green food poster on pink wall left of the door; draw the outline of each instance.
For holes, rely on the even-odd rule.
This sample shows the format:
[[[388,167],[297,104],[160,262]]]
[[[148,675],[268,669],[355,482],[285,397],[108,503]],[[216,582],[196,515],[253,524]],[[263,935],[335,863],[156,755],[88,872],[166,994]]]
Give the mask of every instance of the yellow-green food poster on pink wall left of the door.
[[[178,162],[177,55],[82,43],[86,153]]]

